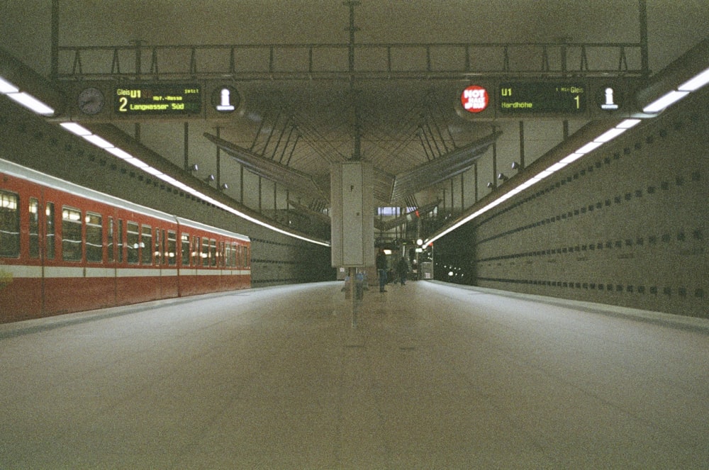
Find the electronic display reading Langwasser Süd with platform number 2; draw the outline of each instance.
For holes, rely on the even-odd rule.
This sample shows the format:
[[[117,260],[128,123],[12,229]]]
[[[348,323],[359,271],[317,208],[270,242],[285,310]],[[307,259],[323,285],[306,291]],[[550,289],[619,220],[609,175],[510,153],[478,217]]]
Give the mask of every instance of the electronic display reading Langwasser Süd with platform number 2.
[[[113,111],[140,116],[199,114],[202,87],[196,84],[125,84],[113,91]]]

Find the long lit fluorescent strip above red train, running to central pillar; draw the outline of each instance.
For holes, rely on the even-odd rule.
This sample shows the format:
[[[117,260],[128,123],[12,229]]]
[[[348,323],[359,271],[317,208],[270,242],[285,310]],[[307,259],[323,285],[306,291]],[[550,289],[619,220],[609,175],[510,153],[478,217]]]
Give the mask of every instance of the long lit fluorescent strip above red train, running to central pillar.
[[[77,123],[71,123],[71,122],[61,123],[60,125],[63,128],[65,128],[66,130],[68,130],[69,132],[79,135],[80,137],[86,139],[88,142],[91,142],[92,144],[96,145],[97,147],[101,147],[102,149],[106,150],[106,152],[116,155],[116,157],[121,158],[121,160],[123,160],[124,162],[130,163],[130,164],[134,165],[135,167],[142,169],[144,172],[146,172],[148,174],[152,174],[156,178],[162,179],[162,181],[172,184],[172,186],[182,189],[182,191],[192,194],[193,196],[196,196],[196,197],[202,199],[203,201],[206,201],[208,203],[213,204],[214,206],[217,206],[218,208],[222,208],[225,211],[233,213],[235,216],[238,216],[240,218],[244,218],[246,220],[250,220],[251,222],[253,222],[257,225],[261,225],[262,227],[268,228],[269,230],[273,230],[274,232],[282,233],[284,235],[288,235],[289,237],[298,238],[298,240],[303,240],[303,241],[309,242],[309,243],[315,243],[316,245],[323,245],[324,247],[330,246],[330,243],[321,242],[320,240],[313,240],[311,238],[303,237],[301,235],[296,235],[295,233],[291,233],[291,232],[288,232],[288,231],[283,230],[281,228],[274,227],[273,225],[269,225],[267,223],[264,223],[262,220],[259,220],[257,218],[247,216],[247,214],[237,211],[235,208],[227,206],[225,203],[221,203],[221,202],[217,201],[216,199],[211,198],[210,196],[207,196],[206,194],[203,194],[203,193],[197,191],[196,189],[191,188],[190,186],[187,186],[186,184],[182,183],[181,181],[177,181],[177,179],[174,179],[173,177],[170,177],[167,174],[160,172],[160,170],[151,167],[149,164],[143,162],[143,160],[135,158],[135,157],[133,157],[133,155],[130,155],[130,153],[125,152],[125,150],[116,147],[111,142],[108,142],[108,140],[101,138],[99,135],[91,133],[90,130],[84,128],[84,126],[82,126],[82,125],[79,125]]]

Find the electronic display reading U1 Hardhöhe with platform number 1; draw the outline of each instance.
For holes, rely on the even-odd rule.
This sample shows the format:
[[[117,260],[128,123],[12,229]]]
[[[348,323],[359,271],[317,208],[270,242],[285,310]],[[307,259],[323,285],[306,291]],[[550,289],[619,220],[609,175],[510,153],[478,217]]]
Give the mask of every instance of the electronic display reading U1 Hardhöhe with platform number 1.
[[[584,113],[587,95],[587,86],[583,83],[501,83],[498,109],[509,114]]]

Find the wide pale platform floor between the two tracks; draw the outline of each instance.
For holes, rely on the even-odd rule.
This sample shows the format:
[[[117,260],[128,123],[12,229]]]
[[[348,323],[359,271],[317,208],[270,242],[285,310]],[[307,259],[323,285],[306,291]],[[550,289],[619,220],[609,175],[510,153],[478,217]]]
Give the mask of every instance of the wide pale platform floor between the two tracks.
[[[0,468],[709,468],[707,320],[340,287],[0,325]]]

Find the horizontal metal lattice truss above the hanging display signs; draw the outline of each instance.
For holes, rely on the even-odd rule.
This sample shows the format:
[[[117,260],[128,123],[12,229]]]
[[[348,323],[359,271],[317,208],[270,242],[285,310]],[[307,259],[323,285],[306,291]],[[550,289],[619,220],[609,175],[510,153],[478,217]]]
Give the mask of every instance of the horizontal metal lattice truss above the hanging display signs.
[[[350,70],[350,47],[354,70]],[[430,43],[59,47],[59,79],[637,77],[639,43]]]

